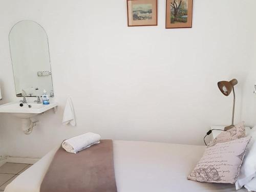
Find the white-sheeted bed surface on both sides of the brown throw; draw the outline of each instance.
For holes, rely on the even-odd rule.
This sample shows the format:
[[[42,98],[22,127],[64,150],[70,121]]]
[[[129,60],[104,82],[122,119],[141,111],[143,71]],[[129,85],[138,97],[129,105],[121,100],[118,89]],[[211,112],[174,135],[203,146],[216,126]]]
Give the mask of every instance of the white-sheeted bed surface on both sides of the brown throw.
[[[39,192],[42,179],[57,148],[14,179],[7,185],[5,192]],[[202,157],[204,150],[205,146],[201,145],[114,141],[117,190],[118,192],[236,191],[234,184],[187,180],[187,176]]]

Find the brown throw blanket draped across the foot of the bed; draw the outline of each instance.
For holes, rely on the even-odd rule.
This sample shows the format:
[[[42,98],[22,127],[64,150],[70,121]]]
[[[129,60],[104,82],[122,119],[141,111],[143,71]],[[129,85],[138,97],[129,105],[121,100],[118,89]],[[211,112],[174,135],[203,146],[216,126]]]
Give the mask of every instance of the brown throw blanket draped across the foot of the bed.
[[[56,152],[41,183],[40,192],[116,192],[113,141],[71,154]]]

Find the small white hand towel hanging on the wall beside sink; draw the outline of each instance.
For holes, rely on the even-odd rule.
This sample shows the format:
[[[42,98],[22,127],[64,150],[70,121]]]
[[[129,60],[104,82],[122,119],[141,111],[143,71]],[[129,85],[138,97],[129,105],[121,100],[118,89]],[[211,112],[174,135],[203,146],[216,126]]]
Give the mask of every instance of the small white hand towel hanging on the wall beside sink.
[[[71,98],[69,97],[66,103],[66,107],[63,113],[62,123],[71,124],[72,126],[76,126],[75,112],[73,108],[73,104]]]

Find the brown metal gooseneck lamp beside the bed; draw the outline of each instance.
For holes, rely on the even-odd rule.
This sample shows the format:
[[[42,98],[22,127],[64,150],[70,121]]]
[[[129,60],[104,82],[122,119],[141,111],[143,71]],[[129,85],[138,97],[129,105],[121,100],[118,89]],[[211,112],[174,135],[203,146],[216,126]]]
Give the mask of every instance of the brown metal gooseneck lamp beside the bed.
[[[234,104],[236,102],[236,96],[234,95],[234,86],[236,86],[236,84],[238,83],[237,79],[232,79],[231,81],[219,81],[218,82],[218,87],[221,91],[221,93],[223,93],[223,95],[228,96],[231,91],[233,91],[233,111],[232,111],[232,124],[229,126],[225,127],[225,131],[230,130],[232,127],[234,127]]]

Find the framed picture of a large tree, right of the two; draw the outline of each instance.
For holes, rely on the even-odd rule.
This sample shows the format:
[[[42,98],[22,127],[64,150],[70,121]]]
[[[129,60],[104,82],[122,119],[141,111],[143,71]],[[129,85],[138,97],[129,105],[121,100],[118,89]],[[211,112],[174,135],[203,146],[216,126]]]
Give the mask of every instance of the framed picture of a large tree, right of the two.
[[[192,27],[193,0],[166,0],[165,28]]]

